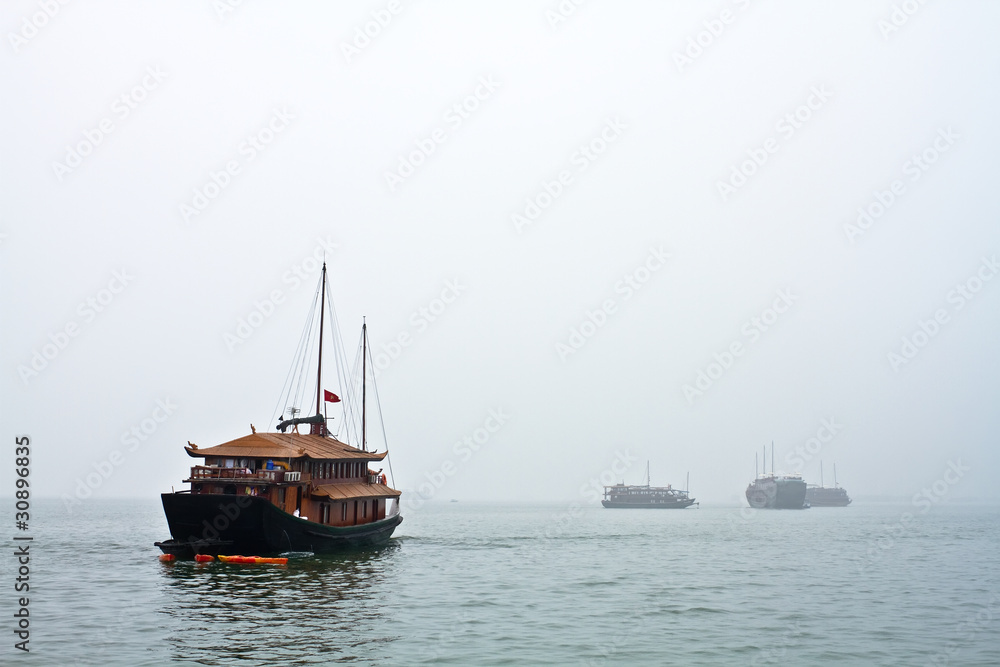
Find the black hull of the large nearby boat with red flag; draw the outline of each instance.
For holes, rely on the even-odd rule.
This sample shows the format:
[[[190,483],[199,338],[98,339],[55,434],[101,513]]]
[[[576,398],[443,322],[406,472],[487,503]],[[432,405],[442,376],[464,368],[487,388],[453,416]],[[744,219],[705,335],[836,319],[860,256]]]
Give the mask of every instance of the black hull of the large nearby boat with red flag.
[[[395,514],[359,526],[326,526],[283,512],[257,496],[163,493],[163,512],[173,539],[157,542],[181,558],[269,556],[287,551],[337,553],[389,541],[403,517]]]

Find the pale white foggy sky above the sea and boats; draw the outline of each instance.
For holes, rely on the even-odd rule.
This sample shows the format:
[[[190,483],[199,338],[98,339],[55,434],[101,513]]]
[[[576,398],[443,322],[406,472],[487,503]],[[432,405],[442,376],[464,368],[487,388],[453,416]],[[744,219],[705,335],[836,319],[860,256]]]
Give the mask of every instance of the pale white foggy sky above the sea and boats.
[[[810,482],[822,459],[854,496],[910,498],[961,461],[949,498],[998,499],[1000,279],[960,309],[949,293],[1000,255],[1000,7],[908,5],[883,35],[885,1],[595,1],[553,26],[555,1],[425,0],[348,62],[342,45],[386,6],[79,2],[15,45],[42,10],[3,3],[4,494],[15,435],[32,438],[38,495],[72,493],[119,450],[94,495],[152,498],[181,488],[188,440],[273,429],[318,272],[298,288],[283,277],[328,238],[345,342],[362,315],[376,353],[412,337],[379,375],[405,490],[451,461],[439,499],[584,502],[628,452],[627,482],[649,459],[654,484],[690,471],[693,495],[735,504],[755,452],[773,440],[793,469],[833,418],[798,466]],[[724,9],[731,22],[679,67]],[[165,77],[122,118],[116,100],[147,68]],[[499,86],[449,124],[484,77]],[[776,124],[814,88],[829,99],[786,136]],[[294,119],[249,160],[241,144],[275,109]],[[102,119],[113,131],[60,179],[53,164]],[[574,154],[613,119],[624,129],[580,171]],[[435,128],[445,141],[390,190],[386,172]],[[957,139],[912,180],[907,161],[948,128]],[[770,138],[777,151],[724,200],[718,182]],[[239,173],[185,222],[180,206],[230,160]],[[562,170],[572,183],[518,231],[512,215]],[[849,239],[897,179],[905,191]],[[616,292],[661,246],[666,265]],[[122,270],[129,284],[86,321],[79,304]],[[456,280],[460,296],[418,329],[413,314]],[[273,290],[283,303],[230,350],[224,336]],[[751,341],[741,328],[779,290],[792,306]],[[606,299],[606,324],[560,355]],[[948,321],[894,368],[938,309]],[[78,335],[22,378],[71,323]],[[689,400],[734,341],[743,354]],[[173,414],[129,451],[122,434],[166,399]],[[454,443],[501,408],[463,460]]]

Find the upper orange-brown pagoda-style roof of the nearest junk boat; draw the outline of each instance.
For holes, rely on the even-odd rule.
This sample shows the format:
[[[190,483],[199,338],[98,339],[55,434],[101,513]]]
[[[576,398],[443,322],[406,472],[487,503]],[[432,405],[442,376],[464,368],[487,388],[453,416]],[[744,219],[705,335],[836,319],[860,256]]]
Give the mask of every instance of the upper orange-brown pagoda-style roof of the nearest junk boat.
[[[359,461],[381,461],[388,452],[376,454],[364,452],[356,447],[340,442],[336,438],[299,433],[251,433],[236,440],[224,442],[215,447],[199,449],[189,442],[184,449],[189,456],[225,456],[233,458],[269,459],[354,459]]]

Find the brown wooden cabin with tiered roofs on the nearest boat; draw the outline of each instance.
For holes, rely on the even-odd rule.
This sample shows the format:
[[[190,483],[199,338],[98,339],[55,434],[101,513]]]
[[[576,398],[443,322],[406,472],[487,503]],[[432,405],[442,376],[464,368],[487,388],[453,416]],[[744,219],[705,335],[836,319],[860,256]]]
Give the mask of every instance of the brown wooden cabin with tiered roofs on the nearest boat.
[[[315,434],[257,433],[200,449],[191,468],[191,493],[263,496],[279,509],[328,526],[356,526],[384,519],[400,492],[386,484],[387,452],[366,452]]]

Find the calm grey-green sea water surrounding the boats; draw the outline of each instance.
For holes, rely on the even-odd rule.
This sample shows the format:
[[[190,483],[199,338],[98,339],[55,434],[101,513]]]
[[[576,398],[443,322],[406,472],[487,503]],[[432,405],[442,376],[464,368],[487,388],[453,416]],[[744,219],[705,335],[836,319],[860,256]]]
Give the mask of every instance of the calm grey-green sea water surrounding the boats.
[[[428,504],[281,567],[160,563],[158,499],[39,501],[31,652],[3,629],[0,662],[1000,665],[1000,509],[907,512]]]

